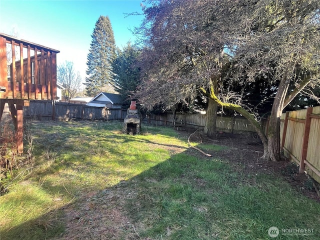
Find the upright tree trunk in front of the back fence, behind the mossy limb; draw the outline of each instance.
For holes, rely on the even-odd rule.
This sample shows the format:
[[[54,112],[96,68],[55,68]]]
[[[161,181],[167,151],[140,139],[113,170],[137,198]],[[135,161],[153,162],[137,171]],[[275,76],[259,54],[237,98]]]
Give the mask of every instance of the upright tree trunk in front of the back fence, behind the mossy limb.
[[[215,123],[216,123],[216,111],[217,103],[212,99],[208,98],[208,107],[206,110],[205,124],[204,124],[204,133],[210,137],[215,138]]]

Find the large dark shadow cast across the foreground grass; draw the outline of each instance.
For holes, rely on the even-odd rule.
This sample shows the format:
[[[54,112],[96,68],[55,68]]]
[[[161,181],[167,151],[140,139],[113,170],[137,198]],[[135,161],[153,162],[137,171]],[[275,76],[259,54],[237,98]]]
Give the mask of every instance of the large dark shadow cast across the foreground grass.
[[[119,142],[137,140],[110,136]],[[138,141],[159,145],[147,139]],[[109,149],[113,150],[112,154],[123,154],[121,150]],[[134,164],[138,156],[132,155],[133,160],[119,159],[120,164]],[[90,165],[85,169],[77,168],[76,158],[72,157],[65,159],[63,167],[81,170],[84,174],[90,167],[99,167],[97,159],[84,160]],[[53,167],[41,176],[57,170]],[[107,178],[108,170],[101,171]],[[40,187],[56,194],[67,189],[70,195],[77,194],[76,198],[39,217],[2,229],[1,237],[32,240],[268,239],[268,228],[276,226],[280,231],[283,228],[313,229],[308,236],[282,234],[281,239],[320,238],[318,202],[300,195],[280,177],[247,176],[241,169],[234,169],[233,165],[214,157],[193,156],[191,149],[174,154],[117,184],[95,187],[97,190],[91,192],[77,188],[71,182],[71,174],[65,177],[71,178],[69,184],[56,185],[50,180]],[[36,202],[36,196],[30,197]]]

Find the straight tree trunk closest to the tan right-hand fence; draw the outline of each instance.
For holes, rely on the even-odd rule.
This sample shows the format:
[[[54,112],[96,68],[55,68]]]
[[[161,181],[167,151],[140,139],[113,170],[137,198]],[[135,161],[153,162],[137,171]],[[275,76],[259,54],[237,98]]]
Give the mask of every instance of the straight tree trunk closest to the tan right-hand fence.
[[[267,132],[268,153],[272,161],[281,160],[280,117],[282,114],[284,100],[288,87],[289,80],[284,78],[281,79],[272,104],[272,110],[269,119],[269,127]]]

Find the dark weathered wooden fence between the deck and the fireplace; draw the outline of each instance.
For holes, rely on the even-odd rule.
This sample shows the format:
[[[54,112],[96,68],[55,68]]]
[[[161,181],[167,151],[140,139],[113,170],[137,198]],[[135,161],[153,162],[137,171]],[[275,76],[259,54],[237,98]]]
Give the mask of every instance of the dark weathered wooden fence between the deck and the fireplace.
[[[3,114],[9,114],[7,105],[4,107]],[[29,106],[23,106],[23,117],[26,119],[118,120],[124,119],[125,115],[126,110],[121,108],[94,107],[51,100],[30,100]]]

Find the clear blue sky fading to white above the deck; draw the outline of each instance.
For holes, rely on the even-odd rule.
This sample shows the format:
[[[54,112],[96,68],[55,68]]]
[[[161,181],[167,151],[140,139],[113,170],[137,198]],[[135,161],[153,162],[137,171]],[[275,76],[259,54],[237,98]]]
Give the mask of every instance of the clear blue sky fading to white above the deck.
[[[143,16],[142,0],[0,0],[0,32],[57,49],[57,64],[73,61],[83,80],[86,56],[94,24],[100,15],[109,16],[117,46],[135,37],[129,28]]]

